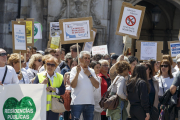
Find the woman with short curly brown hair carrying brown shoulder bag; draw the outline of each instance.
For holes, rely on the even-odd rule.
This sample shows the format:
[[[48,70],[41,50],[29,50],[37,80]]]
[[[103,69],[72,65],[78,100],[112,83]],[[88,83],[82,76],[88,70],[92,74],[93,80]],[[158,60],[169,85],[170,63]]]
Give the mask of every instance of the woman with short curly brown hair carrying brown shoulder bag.
[[[130,65],[126,61],[120,61],[116,64],[116,71],[118,75],[112,83],[111,95],[117,94],[119,96],[119,105],[115,110],[106,111],[106,116],[110,116],[111,120],[126,120],[128,117],[126,107],[128,105],[127,101],[127,91],[126,91],[126,80],[125,77],[128,76],[130,70]],[[109,88],[110,89],[110,88]]]

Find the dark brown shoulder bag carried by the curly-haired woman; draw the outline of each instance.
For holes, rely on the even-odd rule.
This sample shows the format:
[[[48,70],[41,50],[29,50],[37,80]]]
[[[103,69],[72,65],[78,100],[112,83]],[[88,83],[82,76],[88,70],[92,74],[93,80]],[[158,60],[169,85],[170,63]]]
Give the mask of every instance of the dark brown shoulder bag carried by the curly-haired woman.
[[[118,80],[118,78],[116,79],[116,81]],[[114,84],[116,83],[116,81],[114,82]],[[100,107],[103,109],[114,110],[119,105],[119,96],[117,94],[110,95],[111,89],[114,86],[114,84],[112,84],[110,86],[110,89],[108,89],[107,92],[103,94],[103,97],[99,102]]]

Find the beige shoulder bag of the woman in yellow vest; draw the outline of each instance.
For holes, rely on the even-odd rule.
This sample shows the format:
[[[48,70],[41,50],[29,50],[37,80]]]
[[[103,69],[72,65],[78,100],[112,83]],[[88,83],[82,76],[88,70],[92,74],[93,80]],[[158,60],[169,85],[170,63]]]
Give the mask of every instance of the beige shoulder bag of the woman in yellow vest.
[[[49,79],[48,79],[48,85],[51,86]],[[50,92],[52,92],[52,91],[50,91]],[[63,113],[66,111],[62,97],[60,97],[60,99],[58,99],[56,97],[52,97],[52,99],[51,99],[51,111],[54,113]]]

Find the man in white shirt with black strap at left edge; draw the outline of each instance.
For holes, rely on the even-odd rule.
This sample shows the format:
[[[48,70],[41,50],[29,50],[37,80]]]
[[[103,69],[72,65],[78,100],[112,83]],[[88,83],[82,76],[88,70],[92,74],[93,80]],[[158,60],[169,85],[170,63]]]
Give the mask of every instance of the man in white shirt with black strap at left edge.
[[[4,49],[0,48],[0,85],[18,84],[19,80],[14,68],[9,65],[6,65],[6,62],[7,53]]]

